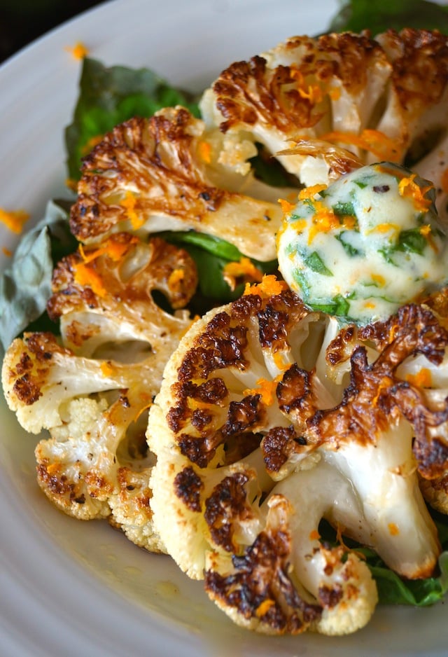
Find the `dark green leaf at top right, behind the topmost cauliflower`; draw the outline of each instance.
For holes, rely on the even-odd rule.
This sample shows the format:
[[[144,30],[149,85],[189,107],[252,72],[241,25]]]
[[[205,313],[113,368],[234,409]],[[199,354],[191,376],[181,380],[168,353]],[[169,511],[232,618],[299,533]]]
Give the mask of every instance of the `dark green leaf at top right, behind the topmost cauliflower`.
[[[439,29],[448,34],[448,7],[426,0],[345,0],[332,19],[328,32],[361,32],[372,34],[403,27]]]

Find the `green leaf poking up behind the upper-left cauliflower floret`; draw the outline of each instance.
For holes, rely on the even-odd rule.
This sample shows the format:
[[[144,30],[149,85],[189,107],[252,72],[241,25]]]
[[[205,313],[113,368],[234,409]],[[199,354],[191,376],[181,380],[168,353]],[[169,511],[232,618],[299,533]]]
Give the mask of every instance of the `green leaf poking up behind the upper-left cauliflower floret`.
[[[105,67],[85,57],[72,123],[65,130],[69,177],[80,177],[80,162],[92,139],[102,137],[132,116],[152,116],[162,107],[183,105],[199,116],[188,92],[170,86],[150,69]]]

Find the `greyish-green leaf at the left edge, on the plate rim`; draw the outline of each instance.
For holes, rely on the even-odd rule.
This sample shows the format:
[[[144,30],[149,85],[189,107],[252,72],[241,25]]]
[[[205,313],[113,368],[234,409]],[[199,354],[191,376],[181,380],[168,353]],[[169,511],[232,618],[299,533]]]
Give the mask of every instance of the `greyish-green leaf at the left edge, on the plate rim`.
[[[45,312],[54,260],[73,251],[68,212],[50,201],[45,216],[24,233],[13,260],[0,277],[0,337],[4,349]]]

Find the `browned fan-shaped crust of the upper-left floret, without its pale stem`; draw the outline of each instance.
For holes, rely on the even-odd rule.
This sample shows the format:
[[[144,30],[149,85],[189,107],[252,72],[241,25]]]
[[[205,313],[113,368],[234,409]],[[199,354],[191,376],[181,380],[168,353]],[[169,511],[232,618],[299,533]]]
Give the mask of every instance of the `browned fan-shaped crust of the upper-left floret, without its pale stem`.
[[[83,161],[70,216],[73,235],[90,242],[130,228],[133,217],[140,225],[153,213],[193,216],[200,223],[216,211],[225,191],[201,176],[191,149],[193,121],[186,109],[177,108],[150,119],[132,118],[106,134]]]

